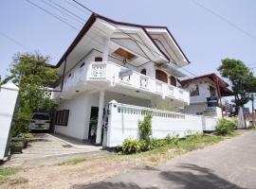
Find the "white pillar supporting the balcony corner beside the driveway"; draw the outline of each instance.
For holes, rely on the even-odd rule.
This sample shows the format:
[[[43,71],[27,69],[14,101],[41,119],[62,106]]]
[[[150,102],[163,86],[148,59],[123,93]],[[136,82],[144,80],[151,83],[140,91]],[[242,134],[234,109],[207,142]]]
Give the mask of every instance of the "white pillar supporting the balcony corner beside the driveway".
[[[105,91],[101,90],[101,92],[100,92],[100,99],[99,99],[99,112],[98,112],[98,125],[97,125],[96,144],[101,144],[102,118],[103,118],[103,109],[104,109],[104,96],[105,96]]]

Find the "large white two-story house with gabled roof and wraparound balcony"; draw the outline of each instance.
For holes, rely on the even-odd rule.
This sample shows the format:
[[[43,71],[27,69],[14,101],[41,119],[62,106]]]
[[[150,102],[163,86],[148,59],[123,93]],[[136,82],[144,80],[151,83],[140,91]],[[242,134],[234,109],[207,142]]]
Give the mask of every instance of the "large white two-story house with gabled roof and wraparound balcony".
[[[55,132],[101,144],[104,107],[115,102],[178,110],[190,104],[179,68],[189,60],[165,26],[92,14],[58,62]],[[162,114],[159,114],[159,116]]]

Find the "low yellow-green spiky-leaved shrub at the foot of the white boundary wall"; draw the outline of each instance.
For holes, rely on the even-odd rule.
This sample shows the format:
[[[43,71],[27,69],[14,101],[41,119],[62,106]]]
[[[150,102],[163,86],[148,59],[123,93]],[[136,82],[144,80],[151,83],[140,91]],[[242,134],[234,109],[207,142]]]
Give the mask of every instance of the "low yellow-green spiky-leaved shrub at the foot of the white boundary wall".
[[[122,151],[125,154],[138,153],[141,151],[142,145],[144,144],[141,144],[137,139],[125,139],[122,143]]]

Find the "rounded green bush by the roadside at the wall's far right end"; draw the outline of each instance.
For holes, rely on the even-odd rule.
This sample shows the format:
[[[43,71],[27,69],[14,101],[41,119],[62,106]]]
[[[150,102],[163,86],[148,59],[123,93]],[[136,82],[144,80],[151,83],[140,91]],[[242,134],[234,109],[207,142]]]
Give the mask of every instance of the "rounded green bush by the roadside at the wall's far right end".
[[[219,119],[215,131],[219,135],[230,134],[235,129],[235,123],[228,119]]]

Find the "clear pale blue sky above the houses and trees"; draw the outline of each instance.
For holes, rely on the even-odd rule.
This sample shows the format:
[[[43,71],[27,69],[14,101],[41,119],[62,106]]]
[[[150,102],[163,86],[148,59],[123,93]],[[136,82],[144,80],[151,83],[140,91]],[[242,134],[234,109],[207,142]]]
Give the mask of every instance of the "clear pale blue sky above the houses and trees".
[[[61,15],[44,1],[30,0],[37,5]],[[71,0],[52,0],[84,18],[88,12],[71,7]],[[168,26],[176,41],[192,61],[186,67],[195,75],[216,72],[224,58],[243,60],[248,66],[256,66],[256,38],[249,37],[230,26],[193,0],[79,0],[90,9],[119,21]],[[212,9],[231,23],[256,36],[256,1],[253,0],[196,0]],[[64,15],[63,15],[64,16]],[[73,25],[81,28],[74,21]],[[10,42],[0,35],[0,75],[8,72],[11,57],[17,52],[39,50],[51,57],[56,64],[78,31],[64,25],[46,12],[28,4],[26,0],[2,0],[0,6],[0,33],[8,35],[24,47]],[[254,69],[255,73],[256,69]]]

